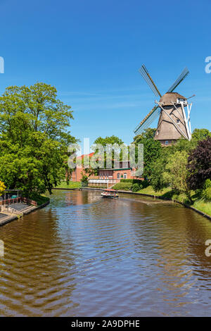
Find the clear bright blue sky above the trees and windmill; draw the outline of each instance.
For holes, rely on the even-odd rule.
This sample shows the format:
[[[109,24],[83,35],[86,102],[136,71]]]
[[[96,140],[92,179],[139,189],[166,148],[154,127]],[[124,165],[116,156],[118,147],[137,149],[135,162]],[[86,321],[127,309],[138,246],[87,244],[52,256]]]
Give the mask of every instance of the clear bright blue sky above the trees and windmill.
[[[161,93],[187,66],[176,91],[196,94],[192,128],[211,130],[210,10],[211,1],[0,0],[0,93],[10,85],[54,85],[74,111],[72,135],[91,142],[117,135],[128,144],[155,100],[141,64]]]

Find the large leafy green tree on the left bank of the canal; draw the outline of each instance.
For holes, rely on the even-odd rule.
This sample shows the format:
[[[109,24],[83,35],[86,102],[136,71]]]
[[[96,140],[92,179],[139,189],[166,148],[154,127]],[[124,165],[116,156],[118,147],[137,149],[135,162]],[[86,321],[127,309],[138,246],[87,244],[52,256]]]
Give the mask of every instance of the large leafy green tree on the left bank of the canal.
[[[7,187],[51,193],[64,177],[70,106],[57,99],[55,87],[37,83],[8,87],[0,97],[0,180]]]

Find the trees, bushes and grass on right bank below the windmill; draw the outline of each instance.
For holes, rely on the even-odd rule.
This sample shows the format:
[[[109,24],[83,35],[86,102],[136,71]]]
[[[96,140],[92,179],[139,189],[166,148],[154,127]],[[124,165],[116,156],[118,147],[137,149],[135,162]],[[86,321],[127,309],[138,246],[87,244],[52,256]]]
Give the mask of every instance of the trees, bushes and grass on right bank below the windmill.
[[[148,129],[134,137],[143,144],[145,180],[121,180],[113,188],[172,199],[211,216],[211,132],[196,129],[191,141],[163,147],[154,134]]]

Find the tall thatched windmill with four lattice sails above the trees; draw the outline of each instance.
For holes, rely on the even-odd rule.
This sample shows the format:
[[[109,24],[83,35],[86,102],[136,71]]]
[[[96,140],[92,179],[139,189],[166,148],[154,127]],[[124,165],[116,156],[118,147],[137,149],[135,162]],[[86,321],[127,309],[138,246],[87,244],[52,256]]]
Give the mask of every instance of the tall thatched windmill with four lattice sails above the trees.
[[[188,104],[188,99],[177,92],[173,92],[176,87],[187,77],[189,71],[185,68],[181,75],[175,80],[174,84],[168,91],[161,95],[158,87],[151,75],[148,73],[145,65],[141,65],[139,72],[149,87],[160,98],[160,101],[155,101],[155,107],[146,115],[141,123],[134,130],[136,135],[140,135],[143,130],[147,129],[153,121],[159,117],[158,127],[155,132],[155,140],[159,140],[161,144],[171,144],[177,141],[180,137],[191,140],[191,120],[190,113],[192,104]],[[194,96],[194,95],[193,95]],[[192,97],[192,96],[191,96]]]

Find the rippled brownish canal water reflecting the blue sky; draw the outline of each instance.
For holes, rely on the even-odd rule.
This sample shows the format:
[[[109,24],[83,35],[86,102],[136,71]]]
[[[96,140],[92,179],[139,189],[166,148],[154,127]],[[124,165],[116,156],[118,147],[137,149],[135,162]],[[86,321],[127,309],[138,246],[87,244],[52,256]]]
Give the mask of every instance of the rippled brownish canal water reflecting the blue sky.
[[[0,316],[209,316],[211,223],[170,202],[54,191],[0,227]]]

